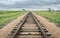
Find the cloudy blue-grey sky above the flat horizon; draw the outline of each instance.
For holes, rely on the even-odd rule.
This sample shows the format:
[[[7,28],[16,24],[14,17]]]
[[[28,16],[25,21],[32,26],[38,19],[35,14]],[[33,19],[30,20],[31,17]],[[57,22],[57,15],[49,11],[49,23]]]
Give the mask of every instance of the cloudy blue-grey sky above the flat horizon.
[[[0,9],[60,9],[60,0],[0,0]]]

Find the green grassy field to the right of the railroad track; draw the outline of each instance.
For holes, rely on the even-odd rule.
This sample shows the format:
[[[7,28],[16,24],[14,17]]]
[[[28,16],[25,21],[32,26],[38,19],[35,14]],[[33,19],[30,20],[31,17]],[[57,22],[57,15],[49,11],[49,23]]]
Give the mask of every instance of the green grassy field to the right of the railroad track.
[[[58,26],[60,26],[60,12],[47,12],[47,11],[34,11],[36,14],[41,15],[49,21],[54,22]]]

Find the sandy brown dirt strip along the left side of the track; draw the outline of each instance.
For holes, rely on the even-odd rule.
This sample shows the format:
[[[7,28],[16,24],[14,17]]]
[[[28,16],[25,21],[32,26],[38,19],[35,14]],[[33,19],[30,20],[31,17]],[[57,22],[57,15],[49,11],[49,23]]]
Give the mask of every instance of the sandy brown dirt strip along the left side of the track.
[[[11,23],[7,24],[4,28],[0,29],[0,38],[6,38],[8,36],[8,34],[12,31],[12,29],[18,24],[20,23],[20,21],[22,20],[22,18],[25,16],[26,14],[17,17],[17,19],[13,20]]]

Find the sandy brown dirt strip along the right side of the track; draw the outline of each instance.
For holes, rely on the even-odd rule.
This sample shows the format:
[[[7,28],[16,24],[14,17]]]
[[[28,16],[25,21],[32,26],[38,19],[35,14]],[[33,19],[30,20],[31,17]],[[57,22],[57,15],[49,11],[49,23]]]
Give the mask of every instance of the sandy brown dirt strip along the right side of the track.
[[[54,23],[48,21],[48,19],[45,19],[44,17],[40,15],[34,14],[40,23],[43,23],[46,27],[46,29],[52,34],[54,38],[60,38],[60,28],[57,27]]]

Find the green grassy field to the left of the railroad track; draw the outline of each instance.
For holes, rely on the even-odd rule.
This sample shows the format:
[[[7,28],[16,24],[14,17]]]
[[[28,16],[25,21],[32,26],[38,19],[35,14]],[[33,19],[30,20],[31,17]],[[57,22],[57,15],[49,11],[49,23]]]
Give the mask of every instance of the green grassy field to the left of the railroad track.
[[[0,11],[0,27],[24,13],[25,11]]]

